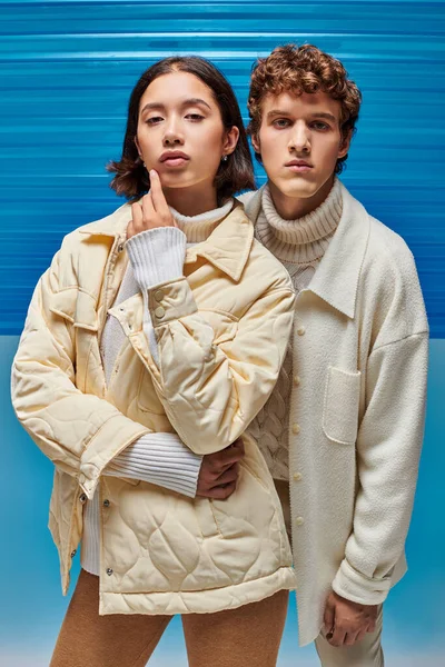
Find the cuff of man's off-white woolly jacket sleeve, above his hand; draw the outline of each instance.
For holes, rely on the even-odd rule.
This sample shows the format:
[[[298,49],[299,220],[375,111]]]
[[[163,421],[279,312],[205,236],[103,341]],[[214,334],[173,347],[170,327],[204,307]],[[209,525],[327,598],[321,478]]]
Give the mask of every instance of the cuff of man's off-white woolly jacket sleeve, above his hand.
[[[390,577],[366,577],[344,559],[333,581],[333,590],[353,603],[380,605],[388,595],[390,581]]]

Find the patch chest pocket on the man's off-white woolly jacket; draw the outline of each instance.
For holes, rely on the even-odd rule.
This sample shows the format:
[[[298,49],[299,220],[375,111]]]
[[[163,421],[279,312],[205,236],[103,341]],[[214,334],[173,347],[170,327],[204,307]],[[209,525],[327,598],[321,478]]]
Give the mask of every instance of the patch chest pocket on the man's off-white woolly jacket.
[[[329,440],[354,445],[357,438],[360,372],[329,366],[325,386],[323,430]]]

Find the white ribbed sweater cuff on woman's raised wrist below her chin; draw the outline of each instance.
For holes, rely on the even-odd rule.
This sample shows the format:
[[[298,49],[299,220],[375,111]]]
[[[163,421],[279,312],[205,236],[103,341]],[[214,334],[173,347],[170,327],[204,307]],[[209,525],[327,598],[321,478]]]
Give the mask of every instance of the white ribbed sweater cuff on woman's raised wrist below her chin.
[[[135,278],[141,290],[184,275],[187,237],[177,227],[157,227],[126,242]]]

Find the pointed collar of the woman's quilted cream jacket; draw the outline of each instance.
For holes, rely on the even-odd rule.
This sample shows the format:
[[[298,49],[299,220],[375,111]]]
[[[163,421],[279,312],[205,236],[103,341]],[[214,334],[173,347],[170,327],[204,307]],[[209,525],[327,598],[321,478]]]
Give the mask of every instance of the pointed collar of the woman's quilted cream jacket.
[[[125,203],[115,212],[97,222],[79,228],[86,236],[119,237],[123,242],[127,226],[131,220],[131,206]],[[196,261],[198,256],[238,281],[249,257],[254,239],[254,225],[244,212],[243,205],[235,200],[231,212],[211,232],[209,238],[187,250],[186,263]]]

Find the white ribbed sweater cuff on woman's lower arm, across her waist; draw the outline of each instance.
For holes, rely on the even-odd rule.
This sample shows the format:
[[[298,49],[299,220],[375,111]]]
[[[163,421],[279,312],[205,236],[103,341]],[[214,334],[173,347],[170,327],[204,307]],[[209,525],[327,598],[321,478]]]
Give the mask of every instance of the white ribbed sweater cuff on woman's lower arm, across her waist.
[[[115,457],[103,474],[140,479],[195,498],[201,461],[175,434],[147,434]]]

